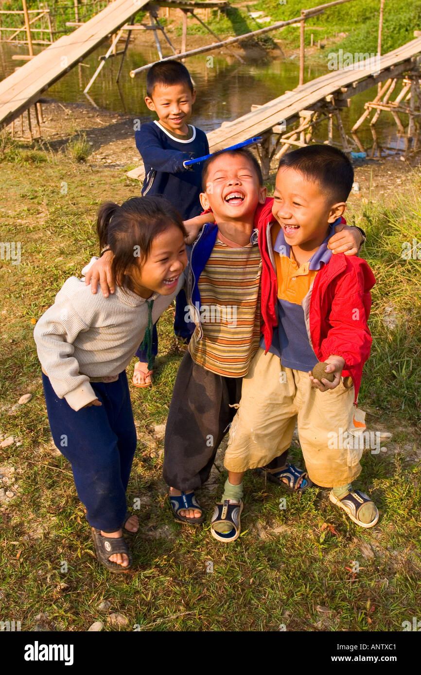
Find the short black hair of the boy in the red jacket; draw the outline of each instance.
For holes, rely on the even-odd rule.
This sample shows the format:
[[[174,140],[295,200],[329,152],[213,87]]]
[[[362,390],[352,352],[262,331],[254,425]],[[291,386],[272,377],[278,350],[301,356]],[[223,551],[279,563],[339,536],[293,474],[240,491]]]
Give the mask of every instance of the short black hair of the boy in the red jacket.
[[[309,182],[318,182],[334,204],[346,202],[353,184],[353,167],[347,155],[331,145],[312,144],[281,157],[279,169],[295,169]]]

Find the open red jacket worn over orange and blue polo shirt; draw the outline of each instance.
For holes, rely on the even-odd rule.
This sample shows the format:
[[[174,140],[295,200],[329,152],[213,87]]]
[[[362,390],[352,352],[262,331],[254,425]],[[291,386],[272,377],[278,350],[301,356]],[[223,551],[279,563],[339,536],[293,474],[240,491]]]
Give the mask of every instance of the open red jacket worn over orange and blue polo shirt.
[[[272,199],[258,207],[259,248],[262,254],[262,333],[266,352],[278,325],[276,304],[278,284],[274,267],[271,225]],[[367,321],[370,315],[370,290],[376,283],[365,260],[343,253],[332,255],[316,275],[312,289],[303,300],[310,344],[320,361],[331,355],[342,356],[343,377],[350,376],[355,390],[355,404],[360,389],[362,369],[370,356],[372,337]]]

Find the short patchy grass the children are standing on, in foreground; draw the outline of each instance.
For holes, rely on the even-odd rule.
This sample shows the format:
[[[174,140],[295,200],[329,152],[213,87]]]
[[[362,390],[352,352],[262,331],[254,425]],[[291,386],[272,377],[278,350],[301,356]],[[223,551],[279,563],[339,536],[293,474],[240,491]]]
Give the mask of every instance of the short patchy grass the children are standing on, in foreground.
[[[121,171],[67,155],[27,147],[45,155],[42,164],[29,165],[16,159],[24,150],[15,151],[0,164],[0,240],[22,242],[20,265],[0,261],[0,410],[1,433],[22,445],[0,450],[0,464],[16,468],[20,486],[0,510],[0,620],[20,620],[22,630],[87,630],[103,620],[107,630],[118,630],[105,618],[120,612],[128,619],[121,630],[254,631],[284,624],[287,630],[378,631],[401,630],[403,621],[419,616],[421,261],[400,257],[401,242],[421,240],[419,173],[408,175],[393,209],[369,202],[354,216],[367,230],[366,256],[378,279],[373,354],[360,405],[370,412],[371,427],[395,433],[387,454],[364,456],[358,481],[378,504],[378,526],[358,529],[328,502],[326,490],[287,495],[249,473],[242,536],[224,546],[207,530],[225,479],[217,470],[199,493],[207,525],[195,530],[173,522],[161,477],[163,443],[153,434],[166,420],[181,358],[169,308],[159,321],[155,387],[132,389],[139,445],[128,503],[141,499],[141,526],[130,538],[135,570],[122,577],[97,564],[69,464],[51,446],[32,330],[64,280],[80,274],[97,253],[99,203],[110,197],[121,202],[138,194],[139,186]],[[394,330],[382,323],[391,302],[397,308]],[[397,375],[390,375],[390,360]],[[11,409],[26,391],[32,400]],[[292,458],[302,464],[296,447]],[[222,456],[217,463],[222,468]],[[286,510],[278,508],[280,496],[286,496]],[[364,557],[364,543],[371,557]],[[358,573],[349,571],[355,560]],[[207,573],[209,562],[214,571]],[[103,599],[111,607],[101,613]]]

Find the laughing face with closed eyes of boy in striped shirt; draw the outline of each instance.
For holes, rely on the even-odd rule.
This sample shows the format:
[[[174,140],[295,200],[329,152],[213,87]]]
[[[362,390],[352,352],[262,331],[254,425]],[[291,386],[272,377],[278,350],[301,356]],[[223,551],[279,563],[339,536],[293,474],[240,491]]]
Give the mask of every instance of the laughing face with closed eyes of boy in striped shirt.
[[[257,205],[263,204],[266,188],[251,162],[242,155],[220,155],[209,166],[206,192],[200,195],[203,209],[212,209],[216,223],[253,218]]]

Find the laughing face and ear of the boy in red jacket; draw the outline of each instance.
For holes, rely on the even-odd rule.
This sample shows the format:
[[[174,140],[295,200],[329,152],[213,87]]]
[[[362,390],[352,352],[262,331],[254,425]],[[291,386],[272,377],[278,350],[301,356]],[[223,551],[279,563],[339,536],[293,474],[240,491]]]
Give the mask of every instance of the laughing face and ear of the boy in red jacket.
[[[276,175],[272,214],[290,246],[314,250],[326,238],[328,227],[345,212],[345,202],[332,203],[318,182],[284,167]]]

